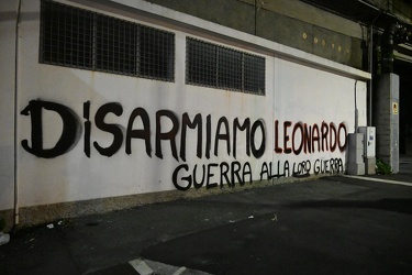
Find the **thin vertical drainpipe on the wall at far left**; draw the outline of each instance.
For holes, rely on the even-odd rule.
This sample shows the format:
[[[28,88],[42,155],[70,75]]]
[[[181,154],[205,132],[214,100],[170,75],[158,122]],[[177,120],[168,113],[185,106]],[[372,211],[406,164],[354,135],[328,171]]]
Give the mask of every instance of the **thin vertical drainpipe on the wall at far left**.
[[[19,82],[19,24],[22,1],[18,2],[15,19],[15,41],[14,41],[14,217],[13,231],[19,224],[19,180],[18,180],[18,82]]]

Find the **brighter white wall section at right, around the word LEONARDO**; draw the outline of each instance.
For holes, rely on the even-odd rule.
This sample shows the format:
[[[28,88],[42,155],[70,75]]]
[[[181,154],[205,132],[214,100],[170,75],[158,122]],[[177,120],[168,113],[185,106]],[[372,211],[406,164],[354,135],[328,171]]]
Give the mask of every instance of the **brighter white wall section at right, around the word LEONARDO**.
[[[331,167],[333,164],[330,161],[335,162],[335,158],[342,158],[345,164],[347,150],[341,152],[339,144],[336,144],[335,150],[331,148],[335,140],[333,134],[331,144],[331,131],[333,131],[331,123],[336,130],[342,123],[345,125],[346,133],[353,133],[355,131],[355,106],[357,106],[358,124],[366,125],[366,82],[282,59],[276,59],[275,63],[275,117],[272,120],[279,121],[275,131],[278,130],[278,147],[283,151],[275,153],[275,161],[289,161],[296,165],[309,161],[310,174],[313,174],[315,168],[319,169],[320,165],[323,165],[321,168],[325,169],[325,174],[333,173]],[[302,148],[300,153],[285,153],[285,121],[292,122],[287,131],[290,140],[292,140],[293,127],[297,123],[312,125],[312,131],[316,124],[320,131],[320,143],[315,142],[311,152],[309,148],[307,152]],[[325,140],[322,139],[323,123],[327,125],[323,130]],[[343,133],[343,128],[341,128],[338,141],[342,146],[345,143]],[[299,150],[301,136],[301,131],[297,130],[296,150]],[[288,144],[293,148],[292,141]]]

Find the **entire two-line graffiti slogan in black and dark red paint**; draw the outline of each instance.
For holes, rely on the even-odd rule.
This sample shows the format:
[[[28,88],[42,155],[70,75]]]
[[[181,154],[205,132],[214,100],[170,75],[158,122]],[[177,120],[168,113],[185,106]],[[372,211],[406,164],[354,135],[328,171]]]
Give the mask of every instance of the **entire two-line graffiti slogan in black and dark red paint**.
[[[240,153],[247,157],[259,160],[267,151],[267,129],[264,119],[250,120],[226,117],[212,120],[211,114],[197,113],[190,116],[185,112],[181,117],[170,110],[158,110],[154,116],[142,107],[135,108],[127,117],[124,125],[107,122],[108,116],[121,118],[123,107],[118,102],[100,106],[93,118],[90,116],[90,101],[82,106],[82,120],[67,106],[32,100],[21,114],[31,118],[31,142],[22,140],[22,147],[29,153],[43,158],[53,158],[68,153],[79,141],[83,140],[83,153],[91,157],[92,148],[100,155],[111,157],[124,145],[127,155],[142,154],[133,152],[133,143],[141,142],[144,153],[148,157],[163,160],[164,153],[169,151],[179,163],[171,175],[176,189],[188,190],[192,187],[215,188],[234,187],[235,183],[244,185],[254,180],[265,180],[281,177],[309,177],[311,174],[338,174],[344,172],[342,158],[330,158],[303,162],[277,161],[263,162],[258,178],[254,178],[249,162],[237,161]],[[43,144],[44,111],[54,111],[63,121],[63,129],[58,141],[53,147],[45,148]],[[135,127],[138,121],[138,128]],[[213,122],[216,121],[216,122]],[[92,127],[112,135],[111,143],[103,146],[91,140]],[[154,129],[154,131],[152,130]],[[194,164],[187,163],[189,134],[196,134],[196,156],[210,160],[215,157],[232,157],[233,162]],[[154,132],[154,143],[152,133]],[[242,139],[241,139],[242,135]],[[274,153],[314,154],[321,152],[344,152],[347,143],[347,128],[345,123],[321,122],[308,124],[304,122],[283,121],[274,122]],[[237,144],[242,140],[244,144]],[[167,144],[167,145],[165,145]],[[243,150],[243,152],[241,151]],[[192,152],[194,154],[194,152]],[[181,162],[181,163],[180,163]]]

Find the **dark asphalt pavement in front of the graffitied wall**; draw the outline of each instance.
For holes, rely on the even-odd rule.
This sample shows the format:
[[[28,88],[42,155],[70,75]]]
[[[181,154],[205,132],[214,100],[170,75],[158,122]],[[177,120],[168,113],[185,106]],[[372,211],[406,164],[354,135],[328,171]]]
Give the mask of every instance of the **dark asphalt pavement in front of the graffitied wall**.
[[[412,274],[412,158],[21,229],[0,274]]]

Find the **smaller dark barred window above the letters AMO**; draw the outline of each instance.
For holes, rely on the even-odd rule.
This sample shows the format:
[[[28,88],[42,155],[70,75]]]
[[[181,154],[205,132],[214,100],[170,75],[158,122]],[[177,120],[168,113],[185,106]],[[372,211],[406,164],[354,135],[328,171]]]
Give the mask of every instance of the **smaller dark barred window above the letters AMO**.
[[[265,95],[265,58],[187,37],[186,82]]]

